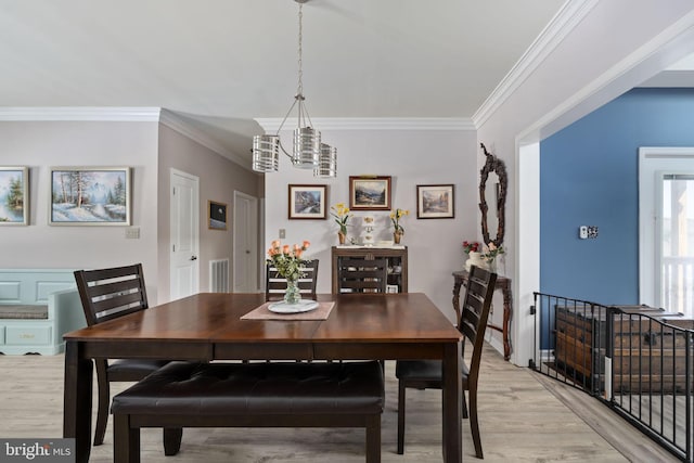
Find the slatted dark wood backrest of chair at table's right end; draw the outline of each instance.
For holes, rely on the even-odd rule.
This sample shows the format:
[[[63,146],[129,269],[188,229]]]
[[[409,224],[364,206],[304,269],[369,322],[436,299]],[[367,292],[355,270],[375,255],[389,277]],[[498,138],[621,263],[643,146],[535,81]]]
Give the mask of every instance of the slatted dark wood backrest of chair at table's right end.
[[[471,267],[465,298],[458,324],[459,331],[473,346],[468,374],[470,382],[476,382],[479,374],[485,332],[487,331],[487,320],[491,309],[491,299],[496,283],[496,273],[491,273],[476,266]]]

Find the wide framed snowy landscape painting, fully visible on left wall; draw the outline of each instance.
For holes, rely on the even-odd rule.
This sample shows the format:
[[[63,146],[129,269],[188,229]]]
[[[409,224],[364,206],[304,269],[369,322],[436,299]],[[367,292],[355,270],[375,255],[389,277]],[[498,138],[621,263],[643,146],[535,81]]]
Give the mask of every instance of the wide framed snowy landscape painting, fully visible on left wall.
[[[51,167],[50,226],[131,224],[130,167]]]

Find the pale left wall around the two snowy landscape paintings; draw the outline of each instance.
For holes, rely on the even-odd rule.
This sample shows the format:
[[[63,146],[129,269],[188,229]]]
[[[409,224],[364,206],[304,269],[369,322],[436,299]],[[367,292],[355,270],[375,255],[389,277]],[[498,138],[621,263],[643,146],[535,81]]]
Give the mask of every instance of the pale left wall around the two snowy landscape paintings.
[[[2,121],[0,165],[30,168],[30,224],[0,227],[0,267],[90,269],[142,262],[156,281],[156,123]],[[50,168],[132,167],[132,226],[50,227]],[[147,280],[147,286],[150,281]],[[156,300],[156,292],[149,295]]]

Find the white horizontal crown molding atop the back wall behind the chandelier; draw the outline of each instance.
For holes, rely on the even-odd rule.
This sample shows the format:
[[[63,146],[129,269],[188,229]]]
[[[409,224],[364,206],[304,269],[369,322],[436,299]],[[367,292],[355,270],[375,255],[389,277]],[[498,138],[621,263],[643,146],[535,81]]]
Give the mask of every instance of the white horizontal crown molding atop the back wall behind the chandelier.
[[[256,118],[266,132],[277,132],[282,118]],[[312,118],[320,130],[476,130],[472,119],[463,117],[323,117]],[[295,117],[287,118],[284,127],[297,126]]]

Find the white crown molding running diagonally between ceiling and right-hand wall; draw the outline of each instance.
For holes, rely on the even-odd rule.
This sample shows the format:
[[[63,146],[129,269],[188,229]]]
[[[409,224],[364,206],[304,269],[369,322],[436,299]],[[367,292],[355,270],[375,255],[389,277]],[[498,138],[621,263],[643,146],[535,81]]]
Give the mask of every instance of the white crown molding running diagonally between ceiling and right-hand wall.
[[[547,56],[597,5],[600,0],[569,0],[542,29],[509,74],[499,82],[479,108],[473,114],[475,127],[481,127],[520,85],[542,64]]]

